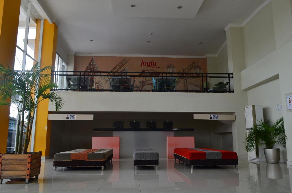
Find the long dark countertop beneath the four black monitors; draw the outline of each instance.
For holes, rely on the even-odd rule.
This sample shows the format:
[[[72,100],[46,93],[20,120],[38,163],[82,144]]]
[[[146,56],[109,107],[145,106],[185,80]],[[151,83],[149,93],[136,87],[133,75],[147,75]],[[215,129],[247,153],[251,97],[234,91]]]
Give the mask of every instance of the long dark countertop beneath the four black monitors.
[[[193,128],[94,128],[93,131],[194,131]]]

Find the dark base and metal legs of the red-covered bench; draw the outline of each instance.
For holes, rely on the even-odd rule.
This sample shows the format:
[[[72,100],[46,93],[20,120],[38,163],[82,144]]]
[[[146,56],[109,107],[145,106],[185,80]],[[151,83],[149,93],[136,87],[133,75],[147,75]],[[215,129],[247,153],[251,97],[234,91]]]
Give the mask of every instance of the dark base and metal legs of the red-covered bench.
[[[176,163],[176,159],[178,159],[178,162],[180,161],[184,162],[184,164],[188,164],[191,166],[191,169],[193,169],[194,166],[209,166],[209,165],[235,165],[235,169],[238,165],[238,159],[236,160],[220,160],[220,159],[205,159],[205,160],[189,160],[181,155],[178,155],[176,153],[173,154],[174,162]]]

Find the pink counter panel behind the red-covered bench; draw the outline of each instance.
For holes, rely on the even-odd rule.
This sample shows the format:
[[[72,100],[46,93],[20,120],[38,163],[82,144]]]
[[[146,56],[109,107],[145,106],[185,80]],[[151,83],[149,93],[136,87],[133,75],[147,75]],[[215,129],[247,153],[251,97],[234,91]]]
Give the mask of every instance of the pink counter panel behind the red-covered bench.
[[[194,148],[195,137],[167,137],[167,158],[173,157],[175,148]]]

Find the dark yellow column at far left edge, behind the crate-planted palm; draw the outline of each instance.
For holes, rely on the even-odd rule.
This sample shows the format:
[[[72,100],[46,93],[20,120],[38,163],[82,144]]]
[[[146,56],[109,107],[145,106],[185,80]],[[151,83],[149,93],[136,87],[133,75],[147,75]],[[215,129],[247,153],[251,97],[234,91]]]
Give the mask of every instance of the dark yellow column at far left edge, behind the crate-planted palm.
[[[14,68],[20,0],[0,0],[0,62]],[[6,153],[9,106],[0,107],[0,153]]]

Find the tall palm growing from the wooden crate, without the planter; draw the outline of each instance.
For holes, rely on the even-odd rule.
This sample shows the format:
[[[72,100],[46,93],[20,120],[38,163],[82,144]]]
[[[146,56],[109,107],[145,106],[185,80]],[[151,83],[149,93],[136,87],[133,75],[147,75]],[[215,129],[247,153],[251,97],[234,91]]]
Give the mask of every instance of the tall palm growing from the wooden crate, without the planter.
[[[50,70],[50,66],[40,68],[39,63],[36,63],[31,70],[26,72],[14,71],[0,64],[0,105],[14,103],[18,110],[15,153],[27,152],[34,115],[41,101],[50,100],[55,103],[56,111],[62,109],[64,105],[63,98],[58,93],[50,92],[50,89],[57,87],[57,85],[51,83]],[[25,112],[28,113],[27,116],[25,116]],[[25,118],[27,119],[28,129],[22,151]]]

